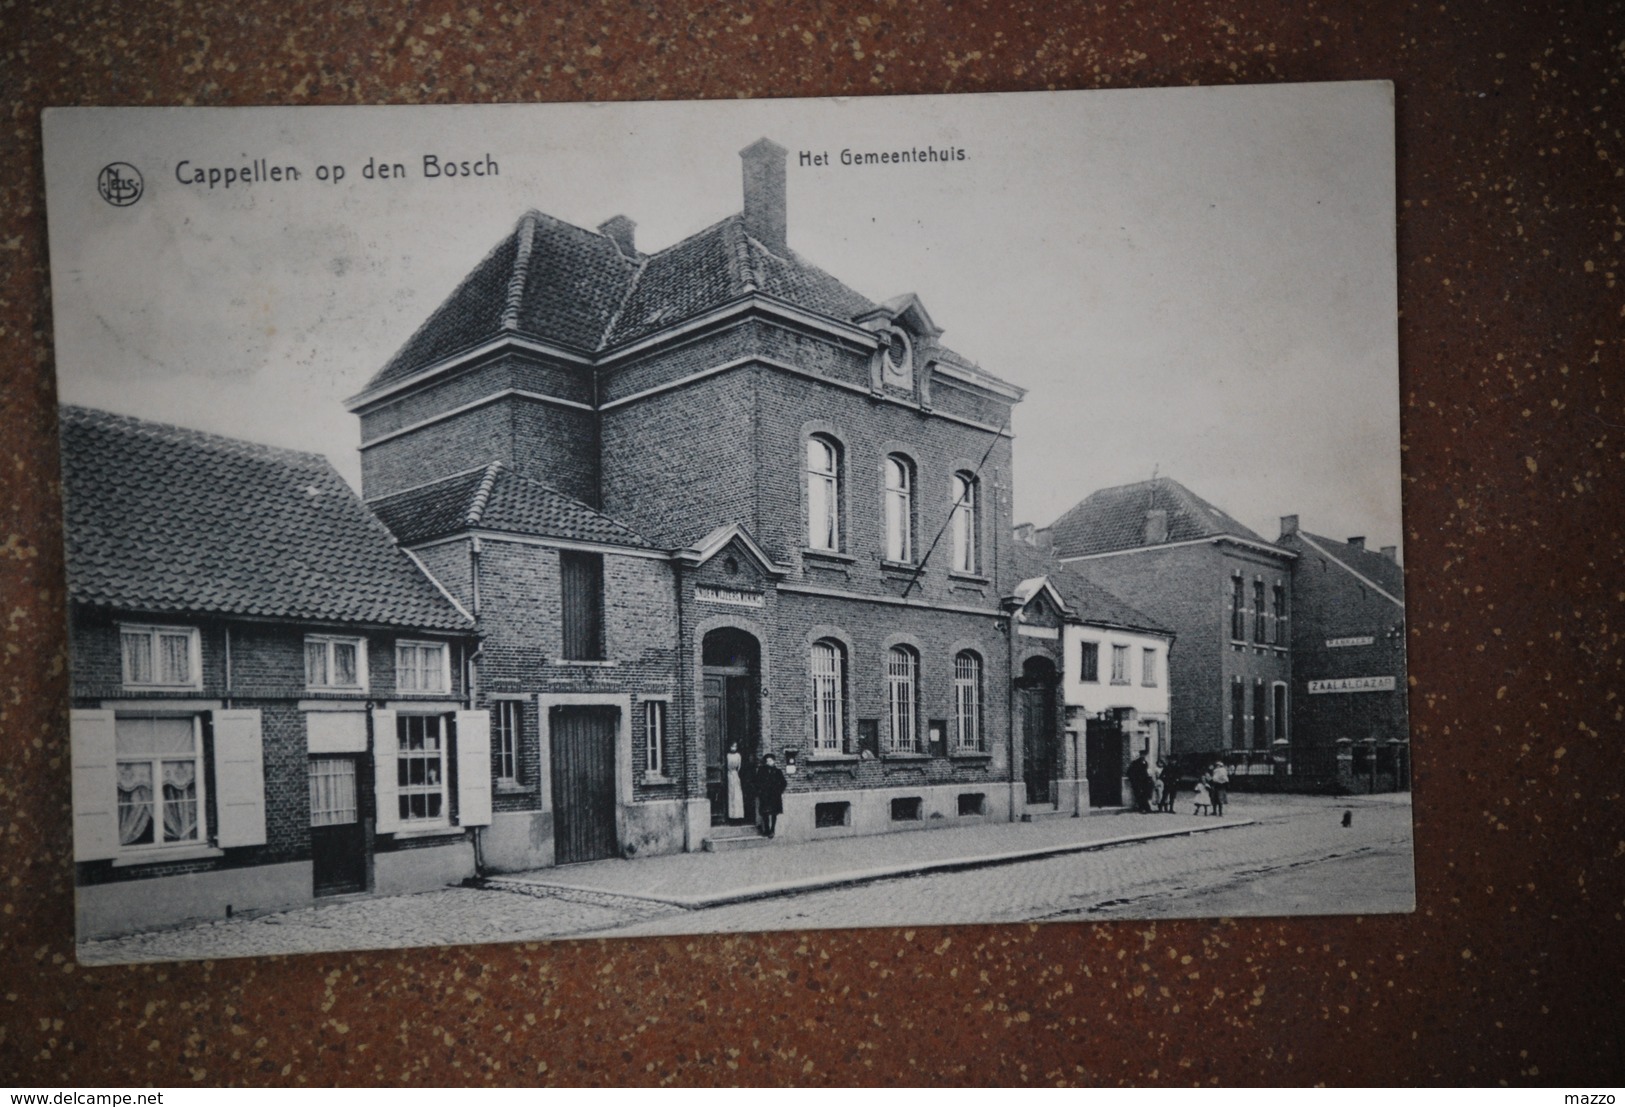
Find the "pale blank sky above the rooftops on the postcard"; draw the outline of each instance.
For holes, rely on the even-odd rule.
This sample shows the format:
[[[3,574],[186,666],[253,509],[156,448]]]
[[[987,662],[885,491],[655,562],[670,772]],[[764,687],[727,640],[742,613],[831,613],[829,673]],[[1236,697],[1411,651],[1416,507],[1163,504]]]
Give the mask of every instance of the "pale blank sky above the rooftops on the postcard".
[[[322,452],[359,484],[343,400],[523,211],[587,228],[626,215],[658,250],[739,210],[738,151],[762,135],[790,150],[791,249],[874,301],[918,294],[946,345],[1027,389],[1017,522],[1155,471],[1266,538],[1297,514],[1402,548],[1381,81],[52,109],[60,397]],[[965,156],[840,164],[916,146]],[[426,177],[424,156],[497,174]],[[301,177],[226,187],[255,161]],[[369,177],[369,161],[406,177]],[[99,195],[109,163],[141,174],[135,203]]]

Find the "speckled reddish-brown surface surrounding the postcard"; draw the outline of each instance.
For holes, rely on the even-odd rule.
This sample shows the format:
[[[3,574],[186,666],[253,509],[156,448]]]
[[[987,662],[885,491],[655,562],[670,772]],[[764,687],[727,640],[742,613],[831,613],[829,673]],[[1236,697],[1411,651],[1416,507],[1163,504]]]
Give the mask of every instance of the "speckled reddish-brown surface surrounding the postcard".
[[[1602,2],[0,0],[0,1083],[1618,1084],[1622,62]],[[1419,914],[75,966],[41,107],[1347,78],[1398,83]]]

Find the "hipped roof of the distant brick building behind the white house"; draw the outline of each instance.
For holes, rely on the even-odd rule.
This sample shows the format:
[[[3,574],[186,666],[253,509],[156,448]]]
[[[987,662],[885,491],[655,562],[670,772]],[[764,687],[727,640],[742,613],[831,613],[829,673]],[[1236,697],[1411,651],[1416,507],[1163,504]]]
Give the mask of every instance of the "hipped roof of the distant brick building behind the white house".
[[[1202,538],[1240,538],[1269,546],[1254,530],[1178,481],[1157,478],[1134,484],[1118,484],[1090,493],[1050,527],[1050,540],[1058,558],[1082,558],[1116,549],[1146,546],[1146,515],[1167,512],[1168,532],[1164,543]]]

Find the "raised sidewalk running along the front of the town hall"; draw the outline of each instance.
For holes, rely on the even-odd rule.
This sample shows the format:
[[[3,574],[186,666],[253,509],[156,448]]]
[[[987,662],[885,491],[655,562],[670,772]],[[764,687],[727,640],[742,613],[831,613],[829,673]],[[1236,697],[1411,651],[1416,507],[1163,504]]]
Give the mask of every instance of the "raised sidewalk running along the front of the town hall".
[[[1043,816],[947,831],[899,831],[795,845],[772,842],[726,853],[673,853],[587,862],[489,876],[491,889],[590,892],[647,899],[689,910],[791,896],[895,876],[1009,865],[1129,842],[1251,826],[1254,819],[1194,814]]]

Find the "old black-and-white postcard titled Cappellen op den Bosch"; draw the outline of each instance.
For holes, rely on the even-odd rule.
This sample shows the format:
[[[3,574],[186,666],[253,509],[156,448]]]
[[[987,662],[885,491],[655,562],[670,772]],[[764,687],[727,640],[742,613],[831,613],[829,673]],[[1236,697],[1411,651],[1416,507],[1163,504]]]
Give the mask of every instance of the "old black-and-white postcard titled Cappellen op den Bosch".
[[[1410,910],[1393,122],[47,112],[80,957]]]

